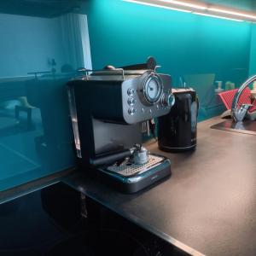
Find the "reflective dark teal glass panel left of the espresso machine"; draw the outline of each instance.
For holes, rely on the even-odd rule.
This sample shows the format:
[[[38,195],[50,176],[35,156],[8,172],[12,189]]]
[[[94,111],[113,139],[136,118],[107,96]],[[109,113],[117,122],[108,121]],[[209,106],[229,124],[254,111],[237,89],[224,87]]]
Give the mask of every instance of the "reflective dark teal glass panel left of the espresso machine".
[[[0,14],[0,191],[74,166],[66,84],[91,68],[87,20],[48,14]]]

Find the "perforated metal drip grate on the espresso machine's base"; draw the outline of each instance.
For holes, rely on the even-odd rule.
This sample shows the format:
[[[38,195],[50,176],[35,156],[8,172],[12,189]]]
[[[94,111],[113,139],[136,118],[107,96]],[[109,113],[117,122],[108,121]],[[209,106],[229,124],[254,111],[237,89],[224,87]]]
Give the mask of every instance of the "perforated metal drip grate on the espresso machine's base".
[[[160,157],[154,154],[148,155],[148,163],[143,165],[135,165],[130,159],[125,159],[121,164],[115,164],[113,166],[108,166],[107,171],[118,173],[124,177],[130,177],[138,173],[147,172],[152,167],[160,164],[165,160],[164,157]]]

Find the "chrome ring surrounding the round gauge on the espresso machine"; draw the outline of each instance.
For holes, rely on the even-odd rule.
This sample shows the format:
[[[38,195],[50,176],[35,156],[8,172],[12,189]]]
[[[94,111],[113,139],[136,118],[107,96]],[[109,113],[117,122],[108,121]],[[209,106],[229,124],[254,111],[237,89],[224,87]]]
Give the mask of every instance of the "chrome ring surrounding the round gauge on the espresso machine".
[[[156,82],[156,84],[158,84],[159,86],[159,91],[157,93],[157,96],[154,97],[154,99],[152,99],[150,96],[148,96],[148,84],[150,83],[150,81],[152,81],[154,79],[154,81]],[[163,84],[162,81],[160,79],[159,76],[157,76],[155,73],[151,73],[144,81],[143,83],[143,97],[145,99],[145,101],[149,104],[149,105],[154,105],[154,103],[159,102],[160,98],[163,94]]]

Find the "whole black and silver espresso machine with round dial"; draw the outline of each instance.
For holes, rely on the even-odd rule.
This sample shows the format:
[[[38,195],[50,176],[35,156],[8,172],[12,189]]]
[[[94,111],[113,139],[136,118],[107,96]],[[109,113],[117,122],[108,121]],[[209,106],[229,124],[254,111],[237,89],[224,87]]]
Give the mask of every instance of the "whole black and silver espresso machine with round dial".
[[[101,71],[68,82],[77,155],[88,174],[134,193],[171,175],[171,162],[142,146],[142,123],[170,112],[171,77],[156,62]]]

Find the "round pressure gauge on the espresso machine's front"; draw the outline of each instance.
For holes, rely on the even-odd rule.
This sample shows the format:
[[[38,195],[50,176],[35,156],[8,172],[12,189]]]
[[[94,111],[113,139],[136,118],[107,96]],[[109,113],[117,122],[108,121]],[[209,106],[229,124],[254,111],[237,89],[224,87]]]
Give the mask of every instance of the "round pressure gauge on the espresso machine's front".
[[[143,94],[146,101],[149,104],[159,102],[162,92],[163,86],[160,78],[155,74],[148,76],[143,87]]]

